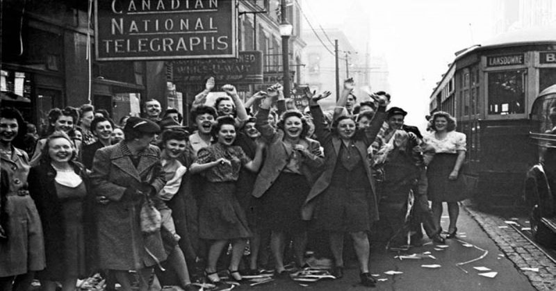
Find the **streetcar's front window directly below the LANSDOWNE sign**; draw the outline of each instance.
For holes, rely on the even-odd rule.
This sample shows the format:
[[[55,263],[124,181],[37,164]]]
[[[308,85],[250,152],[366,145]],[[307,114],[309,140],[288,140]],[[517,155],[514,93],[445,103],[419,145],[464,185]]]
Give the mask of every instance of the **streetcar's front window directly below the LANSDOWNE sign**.
[[[525,113],[527,70],[489,73],[489,114]]]

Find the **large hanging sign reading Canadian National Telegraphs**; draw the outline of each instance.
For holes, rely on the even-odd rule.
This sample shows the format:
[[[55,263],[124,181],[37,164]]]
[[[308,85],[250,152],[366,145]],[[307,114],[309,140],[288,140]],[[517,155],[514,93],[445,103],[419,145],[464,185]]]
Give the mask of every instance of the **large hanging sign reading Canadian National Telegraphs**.
[[[235,0],[95,0],[97,60],[237,58]]]

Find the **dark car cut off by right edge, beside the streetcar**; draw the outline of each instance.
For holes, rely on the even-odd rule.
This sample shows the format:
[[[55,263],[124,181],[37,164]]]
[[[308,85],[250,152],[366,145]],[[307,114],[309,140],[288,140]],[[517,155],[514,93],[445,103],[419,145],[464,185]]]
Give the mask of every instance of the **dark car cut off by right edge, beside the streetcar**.
[[[530,140],[537,161],[525,177],[524,198],[530,211],[531,233],[537,242],[556,246],[556,85],[534,101]]]

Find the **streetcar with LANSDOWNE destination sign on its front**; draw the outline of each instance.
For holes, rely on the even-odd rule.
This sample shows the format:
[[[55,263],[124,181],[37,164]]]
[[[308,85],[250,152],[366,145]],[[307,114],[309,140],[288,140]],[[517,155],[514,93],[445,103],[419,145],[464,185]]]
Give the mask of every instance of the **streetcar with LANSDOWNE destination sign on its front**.
[[[536,150],[528,115],[555,83],[556,29],[540,28],[458,51],[437,83],[430,112],[450,113],[466,134],[466,174],[478,206],[523,206],[523,176]]]

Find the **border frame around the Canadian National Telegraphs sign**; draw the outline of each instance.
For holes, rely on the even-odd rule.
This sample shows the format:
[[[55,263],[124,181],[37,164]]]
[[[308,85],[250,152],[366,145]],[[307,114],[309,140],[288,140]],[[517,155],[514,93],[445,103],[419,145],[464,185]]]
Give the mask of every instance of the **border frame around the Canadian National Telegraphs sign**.
[[[95,60],[187,60],[199,58],[237,58],[238,57],[238,0],[225,0],[231,2],[231,53],[202,54],[193,56],[122,56],[122,57],[100,57],[99,56],[99,10],[98,2],[95,0]]]

